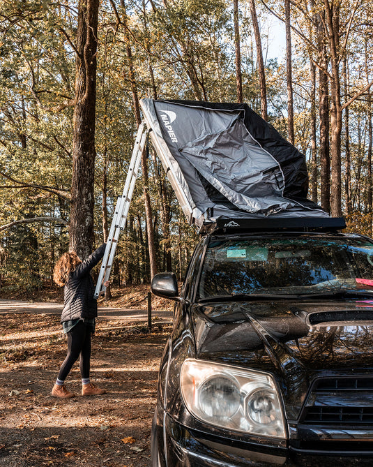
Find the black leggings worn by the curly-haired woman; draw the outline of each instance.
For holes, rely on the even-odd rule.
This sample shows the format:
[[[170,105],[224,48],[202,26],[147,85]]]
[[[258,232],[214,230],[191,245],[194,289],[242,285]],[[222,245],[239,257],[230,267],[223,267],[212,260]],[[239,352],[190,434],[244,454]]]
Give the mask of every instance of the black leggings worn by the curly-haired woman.
[[[82,378],[89,378],[91,329],[85,325],[84,321],[79,321],[79,323],[68,332],[68,355],[59,369],[59,380],[66,380],[68,373],[70,373],[79,355],[79,366]]]

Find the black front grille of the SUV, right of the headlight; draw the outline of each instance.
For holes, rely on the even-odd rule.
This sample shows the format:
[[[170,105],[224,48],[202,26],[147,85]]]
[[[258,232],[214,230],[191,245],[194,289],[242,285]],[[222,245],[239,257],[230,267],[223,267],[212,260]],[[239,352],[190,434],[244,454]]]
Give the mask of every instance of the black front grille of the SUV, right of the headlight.
[[[373,424],[373,377],[316,380],[300,420],[310,424]]]

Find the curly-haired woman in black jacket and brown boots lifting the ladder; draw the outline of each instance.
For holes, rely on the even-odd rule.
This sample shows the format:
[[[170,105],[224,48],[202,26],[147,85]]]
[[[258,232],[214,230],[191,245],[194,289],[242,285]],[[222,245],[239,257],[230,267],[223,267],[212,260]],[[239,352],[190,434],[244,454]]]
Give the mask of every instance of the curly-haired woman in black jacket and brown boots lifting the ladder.
[[[79,356],[82,396],[96,396],[106,392],[93,385],[89,379],[91,334],[95,330],[97,316],[97,301],[93,297],[95,288],[90,272],[104,255],[105,246],[102,244],[84,261],[75,251],[63,253],[54,267],[54,282],[64,286],[61,323],[63,332],[68,336],[68,355],[59,370],[52,396],[63,399],[75,396],[66,389],[65,380]],[[105,282],[105,286],[108,284],[108,281]]]

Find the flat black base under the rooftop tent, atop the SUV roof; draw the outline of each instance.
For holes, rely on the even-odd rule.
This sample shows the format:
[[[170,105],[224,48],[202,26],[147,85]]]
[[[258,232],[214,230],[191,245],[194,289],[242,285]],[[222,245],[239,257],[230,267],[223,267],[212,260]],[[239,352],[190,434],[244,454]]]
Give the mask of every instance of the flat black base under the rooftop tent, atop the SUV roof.
[[[218,218],[215,223],[204,223],[200,233],[259,232],[264,230],[335,232],[344,228],[346,228],[346,221],[343,217]]]

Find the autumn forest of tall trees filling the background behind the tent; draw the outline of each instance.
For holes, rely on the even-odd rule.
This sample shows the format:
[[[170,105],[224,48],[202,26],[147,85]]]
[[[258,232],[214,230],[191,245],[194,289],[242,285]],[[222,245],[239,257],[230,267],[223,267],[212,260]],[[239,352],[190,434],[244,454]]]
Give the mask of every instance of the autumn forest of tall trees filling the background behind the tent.
[[[372,38],[367,0],[0,0],[0,289],[107,239],[144,97],[247,103],[372,235]],[[181,279],[197,237],[149,144],[113,283]]]

